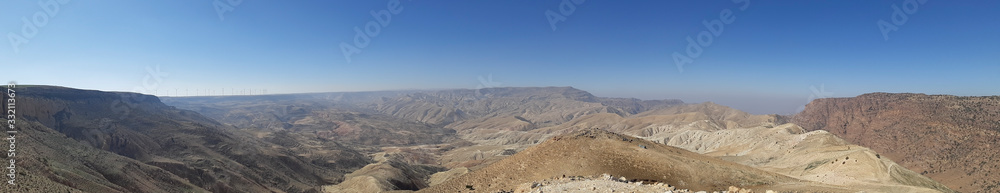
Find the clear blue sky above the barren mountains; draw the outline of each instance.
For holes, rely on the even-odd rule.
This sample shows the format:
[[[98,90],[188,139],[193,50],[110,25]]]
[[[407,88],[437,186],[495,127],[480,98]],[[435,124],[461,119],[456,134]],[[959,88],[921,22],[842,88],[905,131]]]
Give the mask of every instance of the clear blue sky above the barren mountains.
[[[563,1],[402,0],[351,62],[341,43],[354,44],[354,28],[389,0],[243,0],[224,19],[210,0],[51,0],[58,11],[40,2],[50,0],[0,2],[3,81],[175,96],[472,89],[492,75],[485,86],[753,113],[791,113],[811,95],[1000,94],[1000,1],[914,0],[886,39],[878,21],[892,24],[893,5],[912,2],[567,0],[575,10],[553,30],[546,11],[562,15]],[[686,38],[724,10],[735,19],[680,71],[673,53],[686,55]],[[44,26],[25,34],[22,18]],[[28,41],[15,52],[11,37]],[[147,68],[157,66],[154,78]]]

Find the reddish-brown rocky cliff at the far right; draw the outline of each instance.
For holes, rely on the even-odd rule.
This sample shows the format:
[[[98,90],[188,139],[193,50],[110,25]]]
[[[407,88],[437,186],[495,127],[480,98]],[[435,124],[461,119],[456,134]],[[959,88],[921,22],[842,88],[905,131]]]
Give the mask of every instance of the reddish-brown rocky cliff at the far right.
[[[960,192],[1000,191],[1000,96],[817,99],[791,122],[869,147]]]

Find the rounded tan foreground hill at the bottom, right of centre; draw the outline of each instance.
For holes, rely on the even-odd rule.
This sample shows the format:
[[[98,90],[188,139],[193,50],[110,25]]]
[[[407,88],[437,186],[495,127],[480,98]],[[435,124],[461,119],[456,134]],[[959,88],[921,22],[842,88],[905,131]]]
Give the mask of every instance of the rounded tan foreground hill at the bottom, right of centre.
[[[857,156],[857,154],[849,156]],[[893,172],[909,172],[912,176],[888,177],[886,174],[883,180],[863,179],[854,182],[865,181],[868,183],[839,184],[790,177],[787,173],[768,171],[773,170],[771,168],[760,167],[764,169],[759,169],[756,166],[751,167],[751,165],[733,163],[719,158],[724,157],[703,155],[601,129],[583,129],[552,137],[541,144],[529,147],[482,169],[454,177],[419,192],[511,192],[537,188],[537,185],[531,185],[531,182],[601,174],[619,176],[631,181],[643,181],[647,184],[666,183],[679,189],[692,191],[727,190],[728,187],[735,186],[754,190],[799,192],[950,192],[943,187],[940,190],[935,190],[923,186],[927,184],[902,185],[894,181],[893,178],[910,178],[936,184],[926,178],[923,180],[920,180],[919,177],[914,178],[914,176],[919,175],[905,169]],[[823,162],[825,165],[826,162]],[[802,170],[798,168],[794,170],[830,170],[830,167],[839,167],[839,165],[841,164],[838,162],[835,166],[812,166],[819,169],[806,168]],[[856,164],[852,163],[852,165]],[[839,172],[857,169],[859,168],[844,168]],[[884,168],[879,170],[882,169]],[[856,172],[878,173],[866,170]],[[833,172],[821,173],[835,174]],[[841,177],[827,178],[846,179]],[[529,186],[525,187],[526,184]]]

